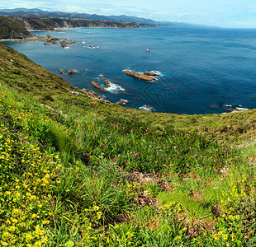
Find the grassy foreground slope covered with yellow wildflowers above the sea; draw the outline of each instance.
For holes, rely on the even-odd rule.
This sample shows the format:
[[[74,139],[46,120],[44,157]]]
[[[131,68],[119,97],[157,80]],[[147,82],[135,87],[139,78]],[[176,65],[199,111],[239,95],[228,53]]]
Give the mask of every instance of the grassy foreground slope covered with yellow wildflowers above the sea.
[[[256,245],[256,110],[147,113],[0,64],[2,246]]]

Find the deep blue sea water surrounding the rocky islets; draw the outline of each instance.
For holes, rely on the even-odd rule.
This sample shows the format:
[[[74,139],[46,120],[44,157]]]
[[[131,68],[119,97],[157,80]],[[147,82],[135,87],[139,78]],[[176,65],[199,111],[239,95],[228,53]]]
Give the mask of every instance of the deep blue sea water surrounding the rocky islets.
[[[107,93],[97,92],[111,102],[124,99],[130,108],[148,105],[177,114],[256,108],[256,29],[76,28],[33,34],[77,43],[69,49],[39,41],[6,44],[81,89],[97,91],[93,80],[105,86],[102,75],[113,86]],[[78,74],[59,74],[59,68]],[[145,82],[127,76],[124,69],[158,71],[161,76]]]

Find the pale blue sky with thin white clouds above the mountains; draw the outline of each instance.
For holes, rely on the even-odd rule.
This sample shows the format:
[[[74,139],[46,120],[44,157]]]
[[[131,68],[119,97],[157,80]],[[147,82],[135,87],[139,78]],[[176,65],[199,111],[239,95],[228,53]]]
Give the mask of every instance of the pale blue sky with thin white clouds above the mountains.
[[[256,0],[0,0],[0,9],[17,7],[256,28]]]

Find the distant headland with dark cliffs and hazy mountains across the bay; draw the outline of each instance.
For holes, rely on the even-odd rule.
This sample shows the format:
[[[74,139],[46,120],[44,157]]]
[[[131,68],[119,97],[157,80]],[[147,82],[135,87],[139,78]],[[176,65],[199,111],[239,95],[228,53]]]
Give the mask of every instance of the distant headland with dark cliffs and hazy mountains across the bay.
[[[0,9],[0,40],[26,39],[30,30],[58,30],[75,27],[145,28],[191,26],[187,23],[153,21],[136,16],[101,16],[87,13],[47,12],[40,9]]]

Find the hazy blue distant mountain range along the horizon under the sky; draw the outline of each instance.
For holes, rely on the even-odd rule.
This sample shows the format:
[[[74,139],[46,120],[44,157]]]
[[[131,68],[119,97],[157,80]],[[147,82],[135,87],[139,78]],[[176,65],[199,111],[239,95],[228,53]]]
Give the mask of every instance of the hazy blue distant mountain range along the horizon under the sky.
[[[23,16],[23,17],[44,17],[44,18],[69,18],[69,19],[87,19],[97,21],[124,21],[135,22],[141,24],[155,24],[162,26],[191,26],[187,23],[168,22],[168,21],[153,21],[151,19],[139,18],[136,16],[101,16],[87,13],[67,13],[67,12],[48,12],[38,8],[14,8],[0,9],[0,16]]]

